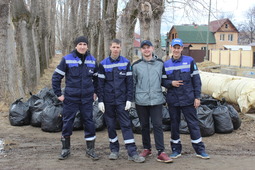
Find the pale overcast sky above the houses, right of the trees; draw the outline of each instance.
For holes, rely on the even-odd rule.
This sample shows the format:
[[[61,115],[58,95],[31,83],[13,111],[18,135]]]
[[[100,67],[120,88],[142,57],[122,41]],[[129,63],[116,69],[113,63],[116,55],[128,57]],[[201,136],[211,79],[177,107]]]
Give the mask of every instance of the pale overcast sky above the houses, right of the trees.
[[[204,1],[207,2],[205,5],[209,6],[209,0]],[[245,13],[248,9],[254,6],[254,0],[211,0],[212,13],[210,21],[220,19],[221,16],[224,16],[224,18],[232,16],[231,21],[237,26],[237,24],[245,20]],[[208,10],[202,9],[204,12],[200,14],[193,14],[192,11],[188,11],[187,9],[186,11],[187,12],[185,13],[177,8],[174,8],[173,10],[170,5],[166,4],[165,13],[162,17],[161,33],[166,34],[173,25],[208,23]]]

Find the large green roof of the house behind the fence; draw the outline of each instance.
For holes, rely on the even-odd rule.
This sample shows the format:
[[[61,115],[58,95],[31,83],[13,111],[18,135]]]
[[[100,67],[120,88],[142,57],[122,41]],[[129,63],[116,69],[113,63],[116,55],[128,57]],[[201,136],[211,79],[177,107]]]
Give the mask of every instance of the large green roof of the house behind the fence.
[[[196,43],[204,44],[207,43],[207,29],[205,25],[175,25],[173,26],[177,33],[178,38],[182,39],[183,43]],[[215,44],[215,37],[212,32],[209,32],[209,42]]]

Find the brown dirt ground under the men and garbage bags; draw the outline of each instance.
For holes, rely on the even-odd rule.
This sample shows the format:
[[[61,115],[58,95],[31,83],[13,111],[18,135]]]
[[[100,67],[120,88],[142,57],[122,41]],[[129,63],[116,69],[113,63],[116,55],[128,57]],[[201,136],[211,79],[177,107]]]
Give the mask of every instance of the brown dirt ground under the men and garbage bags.
[[[53,62],[54,63],[54,62]],[[53,66],[48,72],[52,73]],[[47,73],[47,71],[46,71]],[[49,76],[46,76],[49,77]],[[45,87],[47,81],[43,81]],[[39,87],[41,88],[41,87]],[[173,163],[165,164],[156,161],[155,143],[153,155],[145,163],[134,163],[127,160],[121,132],[118,136],[121,143],[120,158],[108,160],[109,143],[107,131],[97,132],[96,151],[100,160],[92,161],[85,155],[83,131],[74,131],[71,138],[71,157],[58,160],[61,150],[61,132],[48,133],[32,126],[11,126],[8,120],[8,108],[0,106],[0,144],[4,142],[4,151],[0,151],[0,169],[196,169],[196,170],[253,170],[255,165],[255,119],[240,114],[242,125],[230,134],[214,134],[203,137],[206,150],[211,156],[209,160],[197,158],[190,143],[189,135],[181,135],[183,144],[182,156]],[[254,114],[254,113],[253,113]],[[170,132],[164,132],[165,152],[170,154]],[[135,134],[138,151],[142,150],[140,134]],[[0,146],[1,148],[1,146]]]

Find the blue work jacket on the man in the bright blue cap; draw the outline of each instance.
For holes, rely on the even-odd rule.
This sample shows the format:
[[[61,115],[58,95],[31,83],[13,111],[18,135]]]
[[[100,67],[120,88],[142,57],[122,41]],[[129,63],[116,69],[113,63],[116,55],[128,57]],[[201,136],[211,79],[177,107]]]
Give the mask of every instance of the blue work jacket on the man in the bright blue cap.
[[[180,87],[172,86],[172,81],[183,80]],[[162,85],[167,88],[167,103],[171,106],[194,104],[201,96],[201,79],[194,59],[182,55],[179,59],[171,58],[164,63]]]

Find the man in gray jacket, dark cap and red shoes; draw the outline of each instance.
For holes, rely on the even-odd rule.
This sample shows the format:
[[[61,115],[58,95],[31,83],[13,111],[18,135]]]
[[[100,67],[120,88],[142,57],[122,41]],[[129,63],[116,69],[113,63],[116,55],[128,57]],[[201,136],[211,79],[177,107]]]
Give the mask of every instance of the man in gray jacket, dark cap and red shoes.
[[[151,155],[150,119],[153,125],[154,140],[158,151],[157,161],[173,162],[164,152],[162,129],[162,105],[165,99],[161,88],[163,61],[153,54],[154,47],[148,40],[141,43],[142,59],[132,66],[135,104],[142,126],[144,150],[140,156]]]

